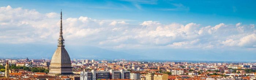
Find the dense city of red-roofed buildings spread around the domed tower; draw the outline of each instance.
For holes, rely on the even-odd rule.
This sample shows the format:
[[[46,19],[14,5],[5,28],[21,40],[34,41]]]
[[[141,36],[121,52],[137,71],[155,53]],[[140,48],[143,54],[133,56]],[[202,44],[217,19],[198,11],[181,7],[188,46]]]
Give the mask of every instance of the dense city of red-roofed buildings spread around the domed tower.
[[[255,80],[256,63],[71,61],[73,75],[50,76],[50,60],[2,59],[1,79],[16,80]],[[6,68],[10,65],[9,68]],[[8,67],[8,66],[7,66]],[[9,71],[6,71],[9,70]],[[8,72],[9,75],[5,75]]]

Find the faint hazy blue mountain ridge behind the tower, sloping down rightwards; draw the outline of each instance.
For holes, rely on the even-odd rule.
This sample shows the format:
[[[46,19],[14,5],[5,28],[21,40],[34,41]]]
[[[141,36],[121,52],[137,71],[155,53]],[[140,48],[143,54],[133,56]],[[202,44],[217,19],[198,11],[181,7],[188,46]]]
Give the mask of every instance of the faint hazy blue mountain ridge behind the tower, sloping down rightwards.
[[[56,45],[36,44],[8,44],[0,45],[0,58],[52,58]],[[138,59],[143,56],[106,50],[93,46],[65,46],[72,58],[95,58],[95,59]]]

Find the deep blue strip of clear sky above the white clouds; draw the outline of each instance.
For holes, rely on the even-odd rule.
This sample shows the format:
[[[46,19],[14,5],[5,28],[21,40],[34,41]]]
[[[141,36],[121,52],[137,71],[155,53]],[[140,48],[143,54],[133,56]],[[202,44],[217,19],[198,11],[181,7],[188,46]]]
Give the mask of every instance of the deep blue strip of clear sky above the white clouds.
[[[23,0],[1,1],[0,5],[36,9],[42,13],[65,11],[65,17],[124,19],[134,23],[153,20],[162,23],[256,23],[254,0]],[[74,15],[75,14],[75,15]]]

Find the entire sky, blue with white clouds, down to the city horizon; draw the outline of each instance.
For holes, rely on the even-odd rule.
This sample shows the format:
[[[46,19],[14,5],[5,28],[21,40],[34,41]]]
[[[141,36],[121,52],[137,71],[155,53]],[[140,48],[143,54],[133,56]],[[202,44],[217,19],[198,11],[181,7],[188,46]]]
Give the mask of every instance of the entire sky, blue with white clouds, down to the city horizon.
[[[30,58],[50,58],[57,45],[62,9],[65,45],[72,58],[97,58],[101,54],[115,58],[122,53],[129,57],[118,58],[256,61],[254,3],[1,0],[0,54],[4,58],[19,57],[21,53]],[[9,49],[12,47],[16,48]]]

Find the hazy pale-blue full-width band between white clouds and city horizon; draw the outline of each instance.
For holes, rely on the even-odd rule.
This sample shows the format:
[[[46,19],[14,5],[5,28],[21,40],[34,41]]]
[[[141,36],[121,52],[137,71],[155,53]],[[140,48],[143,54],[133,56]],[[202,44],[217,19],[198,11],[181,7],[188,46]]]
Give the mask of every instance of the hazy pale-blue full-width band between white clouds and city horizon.
[[[0,44],[0,58],[48,58],[56,44]],[[215,49],[102,49],[94,46],[66,45],[71,59],[131,59],[188,61],[256,61],[255,52]],[[245,57],[246,56],[246,57]]]

